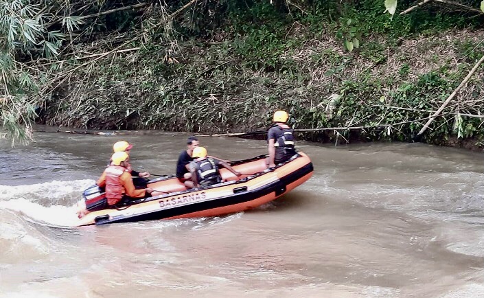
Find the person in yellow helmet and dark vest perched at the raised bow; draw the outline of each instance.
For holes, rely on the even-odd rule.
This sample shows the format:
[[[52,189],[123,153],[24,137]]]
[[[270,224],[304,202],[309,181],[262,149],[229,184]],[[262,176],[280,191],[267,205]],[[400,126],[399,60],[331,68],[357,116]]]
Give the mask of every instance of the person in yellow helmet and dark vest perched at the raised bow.
[[[269,152],[267,165],[269,168],[274,168],[277,163],[288,161],[288,159],[296,154],[292,128],[286,124],[288,119],[288,113],[285,111],[277,111],[274,113],[274,124],[267,133]]]

